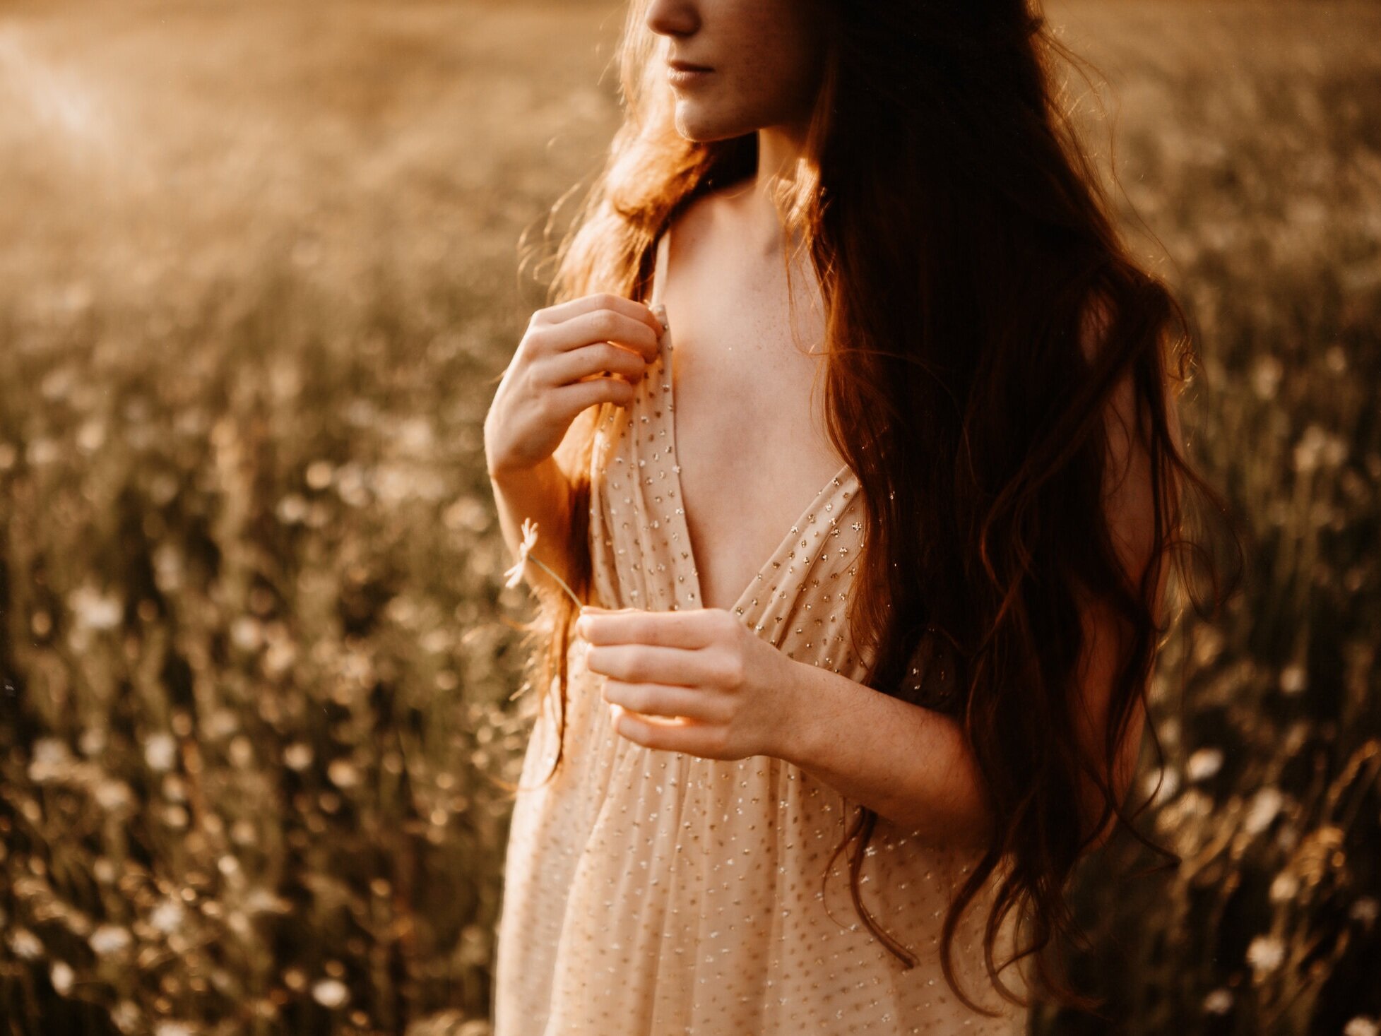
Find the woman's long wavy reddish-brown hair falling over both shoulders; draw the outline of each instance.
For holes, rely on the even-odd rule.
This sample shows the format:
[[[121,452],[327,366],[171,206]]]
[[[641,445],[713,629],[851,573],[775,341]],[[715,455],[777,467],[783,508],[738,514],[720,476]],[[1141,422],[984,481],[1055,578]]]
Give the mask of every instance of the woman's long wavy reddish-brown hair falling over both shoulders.
[[[1166,285],[1121,240],[1097,170],[1056,86],[1063,59],[1034,3],[823,0],[831,22],[804,159],[775,200],[784,240],[809,257],[824,298],[829,435],[858,475],[866,535],[849,629],[871,651],[862,682],[918,704],[947,700],[963,722],[996,818],[986,852],[956,891],[942,930],[942,966],[956,995],[952,943],[963,910],[998,865],[985,964],[1016,909],[1037,978],[1059,1001],[1101,1003],[1059,975],[1056,935],[1077,925],[1065,896],[1074,865],[1110,816],[1145,845],[1109,775],[1141,729],[1149,677],[1186,599],[1161,608],[1168,565],[1177,591],[1203,611],[1185,555],[1213,579],[1206,518],[1230,525],[1224,499],[1177,442],[1174,398],[1190,381],[1189,325]],[[695,199],[757,170],[757,135],[693,142],[673,122],[657,40],[631,0],[616,62],[624,122],[552,256],[552,303],[594,291],[645,298],[653,244]],[[558,206],[561,202],[558,202]],[[791,257],[783,257],[789,276]],[[1084,345],[1090,329],[1098,348]],[[1130,378],[1149,450],[1155,550],[1141,573],[1119,559],[1102,504],[1108,405]],[[558,450],[572,474],[568,580],[590,599],[590,407]],[[1197,490],[1206,507],[1189,507]],[[566,655],[576,617],[563,594],[539,593],[523,629],[544,641],[530,682],[559,696],[563,757]],[[1077,735],[1077,673],[1095,599],[1121,635],[1101,758]],[[906,674],[924,659],[917,689]],[[953,675],[952,675],[953,674]],[[936,681],[953,693],[939,695]],[[1160,740],[1156,753],[1163,758]],[[1070,803],[1103,804],[1091,830]],[[1142,809],[1149,805],[1142,804]],[[859,895],[859,867],[878,815],[859,807],[851,892],[869,930],[911,967]],[[1087,945],[1087,941],[1081,941]]]

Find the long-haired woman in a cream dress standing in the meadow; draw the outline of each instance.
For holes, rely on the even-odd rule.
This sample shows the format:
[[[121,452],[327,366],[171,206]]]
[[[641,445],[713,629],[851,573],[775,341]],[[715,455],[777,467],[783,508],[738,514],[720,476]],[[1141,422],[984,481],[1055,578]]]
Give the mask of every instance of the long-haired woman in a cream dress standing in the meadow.
[[[1211,490],[1054,47],[1021,0],[631,4],[626,122],[485,427],[547,637],[497,1036],[1081,1003],[1062,891],[1127,822]]]

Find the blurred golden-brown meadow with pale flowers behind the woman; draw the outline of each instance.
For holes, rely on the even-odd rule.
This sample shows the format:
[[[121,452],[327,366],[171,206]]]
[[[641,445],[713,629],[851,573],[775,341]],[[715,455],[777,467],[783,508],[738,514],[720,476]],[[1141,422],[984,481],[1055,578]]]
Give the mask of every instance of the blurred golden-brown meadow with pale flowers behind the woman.
[[[489,1032],[536,693],[481,428],[621,10],[0,0],[0,1032]],[[1156,681],[1182,865],[1079,879],[1120,1021],[1033,1030],[1375,1036],[1381,4],[1048,14],[1255,543]]]

